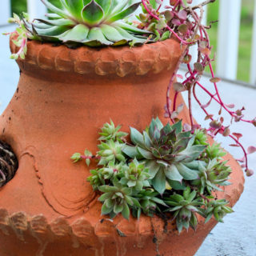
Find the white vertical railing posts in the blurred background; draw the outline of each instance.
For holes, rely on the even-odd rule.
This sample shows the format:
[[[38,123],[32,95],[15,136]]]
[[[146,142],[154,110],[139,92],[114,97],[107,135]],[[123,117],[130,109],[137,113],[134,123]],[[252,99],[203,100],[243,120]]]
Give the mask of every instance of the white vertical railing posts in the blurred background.
[[[42,18],[46,7],[39,0],[26,0],[30,18]],[[122,0],[120,0],[122,1]],[[167,0],[164,0],[167,2]],[[194,0],[194,3],[202,0]],[[236,80],[238,68],[238,43],[242,0],[217,0],[220,2],[218,22],[217,75]],[[10,0],[1,0],[0,25],[10,17]],[[256,86],[256,0],[254,0],[254,30],[251,50],[250,83]]]

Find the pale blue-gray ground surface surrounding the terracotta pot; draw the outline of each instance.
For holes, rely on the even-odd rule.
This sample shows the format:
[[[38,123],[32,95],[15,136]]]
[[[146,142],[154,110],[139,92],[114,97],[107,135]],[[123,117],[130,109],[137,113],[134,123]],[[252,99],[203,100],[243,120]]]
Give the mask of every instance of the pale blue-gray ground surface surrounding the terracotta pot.
[[[13,30],[13,26],[0,27],[0,33]],[[18,66],[10,60],[9,39],[0,36],[0,114],[5,110],[18,84]],[[181,72],[182,73],[182,72]],[[209,78],[202,78],[202,82],[210,85]],[[256,90],[238,86],[229,82],[221,82],[219,89],[222,98],[227,103],[245,106],[247,117],[256,116]],[[205,99],[198,90],[198,95]],[[186,95],[184,95],[186,97]],[[194,104],[196,105],[196,104]],[[218,106],[210,108],[210,113],[218,112]],[[199,107],[194,107],[194,116],[198,122],[204,122],[204,116]],[[235,124],[232,131],[244,134],[243,144],[248,147],[256,146],[256,128],[244,123]],[[218,138],[223,141],[222,137]],[[230,141],[223,141],[222,146],[239,157],[241,151],[229,147]],[[250,168],[256,173],[256,154],[250,155]],[[1,206],[0,206],[1,207]],[[246,187],[242,197],[234,206],[234,214],[224,218],[225,223],[219,223],[208,235],[196,256],[256,256],[256,175],[246,178]]]

